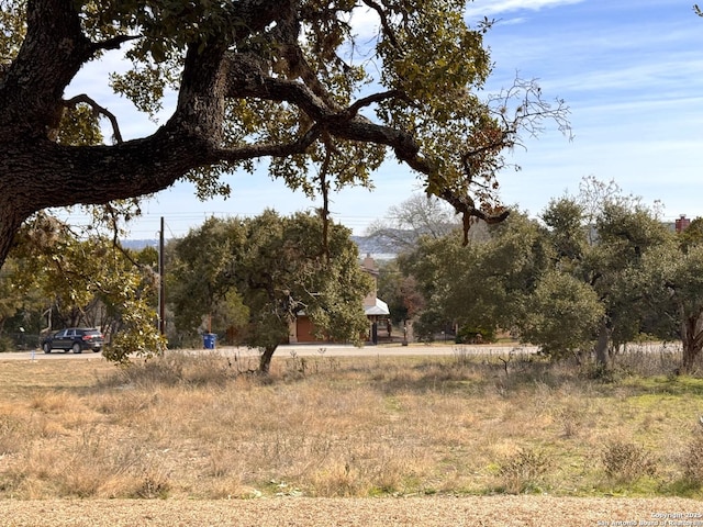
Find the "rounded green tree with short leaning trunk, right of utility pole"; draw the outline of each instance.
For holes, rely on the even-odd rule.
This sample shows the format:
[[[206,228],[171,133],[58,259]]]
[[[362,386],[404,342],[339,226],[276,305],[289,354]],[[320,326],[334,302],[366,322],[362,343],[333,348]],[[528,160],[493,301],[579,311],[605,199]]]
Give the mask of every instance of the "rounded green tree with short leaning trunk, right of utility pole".
[[[191,231],[170,262],[179,330],[192,333],[208,317],[208,329],[260,350],[261,372],[303,314],[321,337],[360,344],[371,279],[349,229],[331,223],[325,247],[323,228],[312,214],[266,211],[254,218],[210,218]]]

